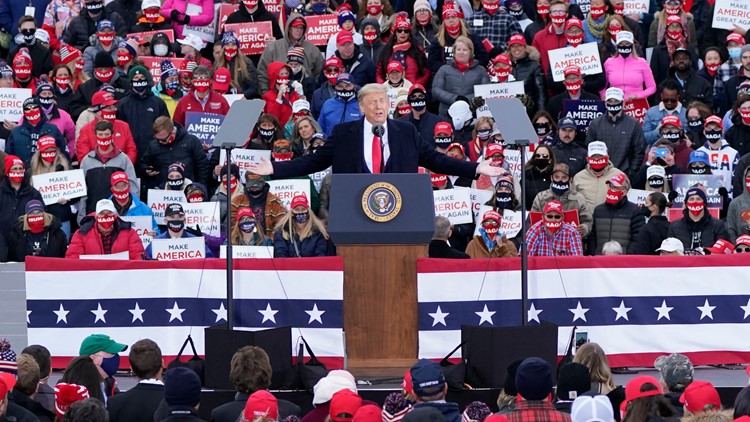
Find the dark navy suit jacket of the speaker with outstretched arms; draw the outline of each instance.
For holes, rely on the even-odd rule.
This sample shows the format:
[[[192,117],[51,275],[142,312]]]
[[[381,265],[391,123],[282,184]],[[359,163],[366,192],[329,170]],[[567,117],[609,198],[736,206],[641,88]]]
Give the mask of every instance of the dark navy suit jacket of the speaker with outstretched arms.
[[[477,163],[456,160],[435,151],[417,132],[414,125],[388,119],[390,156],[385,173],[416,173],[422,166],[438,174],[474,178]],[[333,173],[369,173],[364,156],[364,118],[341,123],[315,154],[292,161],[274,162],[273,177],[288,179],[315,173],[333,166]]]

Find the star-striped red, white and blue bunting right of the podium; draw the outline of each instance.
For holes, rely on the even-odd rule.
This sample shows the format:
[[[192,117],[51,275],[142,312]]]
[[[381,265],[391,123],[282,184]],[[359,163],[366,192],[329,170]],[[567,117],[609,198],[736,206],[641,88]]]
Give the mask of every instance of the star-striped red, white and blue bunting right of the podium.
[[[748,270],[743,254],[530,258],[528,319],[559,326],[558,355],[577,326],[612,366],[653,366],[673,352],[746,363]],[[461,325],[520,325],[520,259],[420,259],[417,271],[420,358],[447,355]]]

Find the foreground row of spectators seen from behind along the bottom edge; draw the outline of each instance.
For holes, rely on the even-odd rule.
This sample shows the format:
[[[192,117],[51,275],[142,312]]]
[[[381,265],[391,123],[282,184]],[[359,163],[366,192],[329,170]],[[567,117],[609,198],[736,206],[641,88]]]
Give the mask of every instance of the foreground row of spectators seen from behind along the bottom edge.
[[[166,365],[159,345],[142,339],[130,346],[104,334],[86,337],[80,356],[53,385],[50,353],[31,345],[20,354],[0,340],[0,421],[145,422],[201,421],[202,379],[188,365]],[[116,375],[128,351],[137,384],[121,392]],[[617,385],[607,357],[585,343],[572,362],[554,368],[528,357],[511,362],[496,402],[473,401],[462,410],[450,398],[444,368],[421,359],[404,375],[401,391],[383,403],[358,394],[357,381],[332,370],[314,384],[312,403],[294,403],[269,391],[271,367],[256,346],[237,350],[229,365],[234,399],[210,411],[211,422],[730,422],[750,419],[750,387],[725,407],[716,388],[695,379],[681,354],[663,355],[659,379],[636,376]],[[322,375],[321,375],[322,376]],[[298,396],[300,397],[300,396]],[[301,400],[301,399],[300,399]],[[309,399],[307,399],[309,400]],[[303,414],[301,409],[312,410]],[[204,412],[208,414],[208,412]]]

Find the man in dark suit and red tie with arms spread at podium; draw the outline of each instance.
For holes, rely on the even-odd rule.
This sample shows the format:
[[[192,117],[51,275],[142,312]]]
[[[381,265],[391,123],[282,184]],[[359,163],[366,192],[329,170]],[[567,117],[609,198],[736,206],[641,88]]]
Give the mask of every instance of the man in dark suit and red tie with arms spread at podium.
[[[435,151],[409,123],[388,118],[388,89],[379,84],[359,91],[363,119],[341,123],[315,154],[286,162],[262,159],[249,170],[278,179],[299,177],[325,170],[333,173],[417,173],[422,166],[438,174],[474,178],[478,174],[498,176],[502,169],[490,160],[471,163]]]

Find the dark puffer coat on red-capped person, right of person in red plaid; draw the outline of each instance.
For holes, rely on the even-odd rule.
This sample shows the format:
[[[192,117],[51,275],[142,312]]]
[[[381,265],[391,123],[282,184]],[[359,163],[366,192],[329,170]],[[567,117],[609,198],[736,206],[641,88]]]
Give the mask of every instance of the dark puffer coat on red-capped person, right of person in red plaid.
[[[635,239],[646,218],[641,208],[623,198],[616,204],[604,203],[594,208],[594,229],[589,236],[589,250],[596,247],[596,255],[610,240],[616,240],[627,254],[633,254]]]

